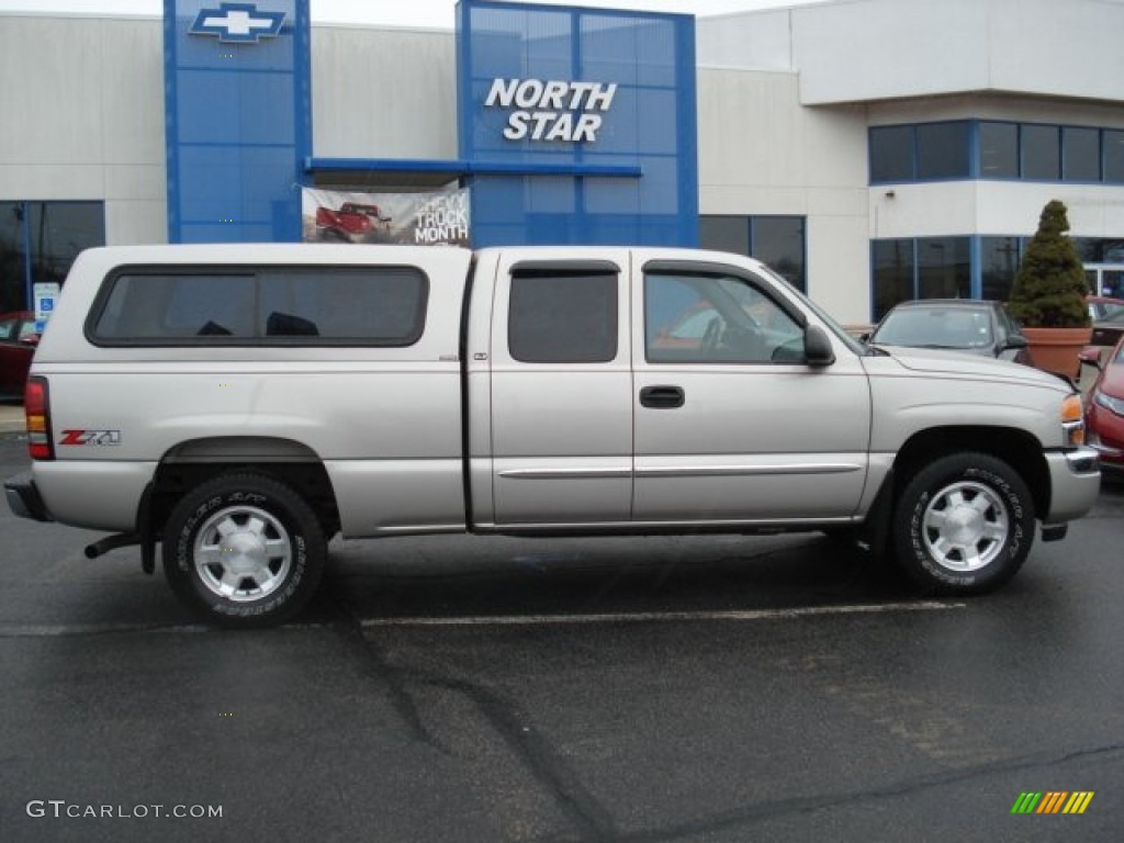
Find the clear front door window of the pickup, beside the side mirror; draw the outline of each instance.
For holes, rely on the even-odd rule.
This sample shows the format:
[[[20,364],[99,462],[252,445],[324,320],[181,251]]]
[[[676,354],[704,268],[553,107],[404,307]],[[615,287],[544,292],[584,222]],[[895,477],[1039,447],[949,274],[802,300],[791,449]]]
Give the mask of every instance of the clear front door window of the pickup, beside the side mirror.
[[[804,330],[742,278],[644,277],[645,357],[650,363],[799,363]]]

